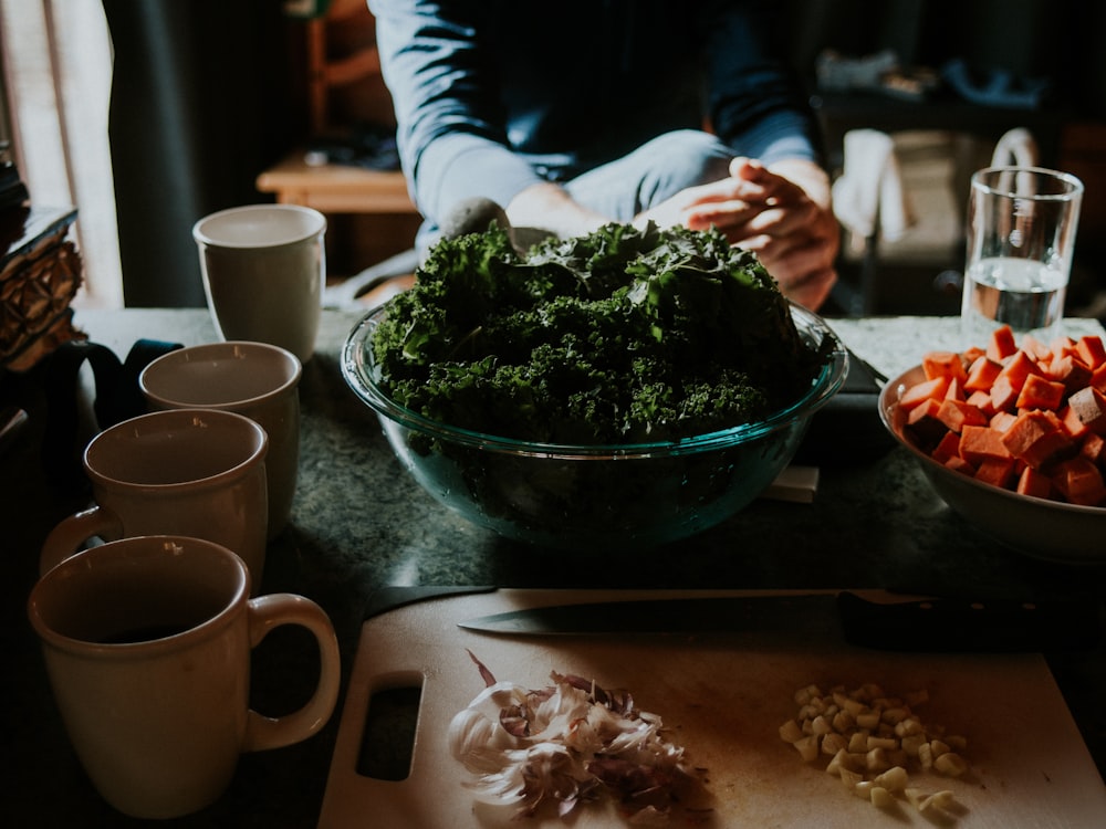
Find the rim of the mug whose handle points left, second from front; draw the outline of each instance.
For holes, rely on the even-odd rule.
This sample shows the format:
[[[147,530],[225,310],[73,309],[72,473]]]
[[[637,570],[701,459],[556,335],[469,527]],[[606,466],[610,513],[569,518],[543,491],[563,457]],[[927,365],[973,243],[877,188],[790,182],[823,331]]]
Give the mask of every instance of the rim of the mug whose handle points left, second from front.
[[[234,423],[240,428],[244,428],[254,437],[254,448],[252,451],[243,458],[241,461],[236,463],[233,466],[221,470],[212,475],[206,475],[204,478],[195,478],[189,481],[171,481],[168,483],[146,483],[146,482],[132,482],[123,481],[118,478],[105,474],[104,472],[97,470],[92,465],[91,457],[100,449],[101,445],[106,444],[113,436],[119,434],[126,431],[134,431],[140,428],[145,423],[152,420],[173,420],[175,422],[181,422],[187,418],[202,417],[207,419],[225,420],[228,423]],[[85,447],[82,454],[82,461],[86,474],[92,479],[93,483],[103,486],[106,490],[113,492],[118,491],[134,491],[143,490],[145,492],[165,492],[165,493],[176,493],[181,489],[191,490],[207,490],[213,486],[222,485],[227,480],[233,480],[247,474],[252,466],[258,464],[264,464],[265,459],[269,454],[269,433],[264,428],[258,423],[255,420],[240,414],[236,411],[228,411],[226,409],[216,408],[204,408],[204,407],[188,407],[185,409],[161,409],[158,411],[150,411],[145,414],[138,414],[137,417],[123,420],[115,426],[111,426],[107,429],[100,432],[91,441],[88,445]]]

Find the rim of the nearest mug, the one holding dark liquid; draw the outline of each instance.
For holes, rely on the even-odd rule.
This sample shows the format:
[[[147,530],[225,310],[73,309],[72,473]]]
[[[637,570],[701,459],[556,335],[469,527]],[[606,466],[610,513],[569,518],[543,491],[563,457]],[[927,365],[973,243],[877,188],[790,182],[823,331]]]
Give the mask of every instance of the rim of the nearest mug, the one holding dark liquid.
[[[122,560],[126,560],[159,556],[167,544],[182,547],[191,555],[196,555],[196,550],[199,549],[201,550],[200,555],[216,556],[236,574],[234,583],[217,612],[171,636],[131,642],[96,642],[91,639],[82,639],[56,630],[55,626],[48,621],[43,612],[46,604],[44,594],[53,589],[60,579],[77,578],[81,573],[87,573],[90,568],[105,567],[108,566],[109,562],[118,563],[121,557]],[[128,547],[137,549],[128,550],[126,549]],[[123,552],[121,553],[121,550]],[[109,556],[108,563],[98,562],[105,556]],[[244,607],[250,597],[250,590],[249,567],[240,556],[221,544],[186,535],[138,535],[88,547],[59,562],[46,570],[31,588],[27,600],[27,615],[41,640],[58,650],[75,654],[94,654],[97,658],[146,658],[152,653],[166,654],[190,648],[218,634],[229,620],[240,612],[240,608]]]

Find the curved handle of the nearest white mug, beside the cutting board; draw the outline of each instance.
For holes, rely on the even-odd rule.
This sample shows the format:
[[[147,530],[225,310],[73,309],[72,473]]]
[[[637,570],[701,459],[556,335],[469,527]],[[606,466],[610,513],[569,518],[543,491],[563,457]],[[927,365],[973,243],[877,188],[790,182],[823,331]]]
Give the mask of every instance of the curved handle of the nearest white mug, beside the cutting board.
[[[251,648],[281,625],[300,625],[319,642],[319,684],[304,706],[281,717],[249,712],[242,751],[262,752],[299,743],[326,725],[338,699],[341,658],[330,617],[311,599],[286,592],[259,596],[250,599],[249,616]]]

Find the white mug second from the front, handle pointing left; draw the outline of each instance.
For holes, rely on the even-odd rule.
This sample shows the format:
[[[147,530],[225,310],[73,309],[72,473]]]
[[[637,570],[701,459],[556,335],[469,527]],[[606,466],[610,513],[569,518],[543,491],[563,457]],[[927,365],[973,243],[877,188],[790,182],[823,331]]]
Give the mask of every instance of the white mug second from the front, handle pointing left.
[[[156,411],[105,429],[83,459],[95,504],[63,518],[46,536],[41,573],[96,537],[188,535],[232,549],[260,586],[269,528],[268,450],[265,430],[230,411]]]

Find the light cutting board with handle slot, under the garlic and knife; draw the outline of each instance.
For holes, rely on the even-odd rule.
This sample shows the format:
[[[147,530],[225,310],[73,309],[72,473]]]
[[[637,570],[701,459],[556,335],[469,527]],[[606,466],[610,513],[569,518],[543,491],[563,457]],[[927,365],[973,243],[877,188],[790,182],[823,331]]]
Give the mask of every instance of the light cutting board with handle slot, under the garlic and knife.
[[[483,688],[468,651],[498,680],[528,688],[550,684],[550,672],[557,671],[632,692],[639,709],[671,728],[692,765],[706,769],[712,811],[695,826],[933,826],[906,800],[883,812],[848,794],[824,772],[824,760],[804,764],[779,736],[779,726],[796,712],[796,689],[866,682],[889,694],[926,690],[922,720],[967,737],[967,778],[911,774],[911,785],[954,793],[958,806],[945,825],[1106,825],[1106,786],[1040,654],[874,651],[845,643],[832,618],[810,617],[755,633],[695,637],[500,637],[457,627],[523,607],[685,595],[749,594],[497,590],[418,601],[368,619],[320,829],[629,826],[609,804],[588,805],[570,822],[547,814],[512,822],[510,808],[476,804],[463,786],[469,773],[450,756],[446,737],[453,715]],[[421,688],[409,776],[396,781],[358,774],[369,700],[404,686]]]

